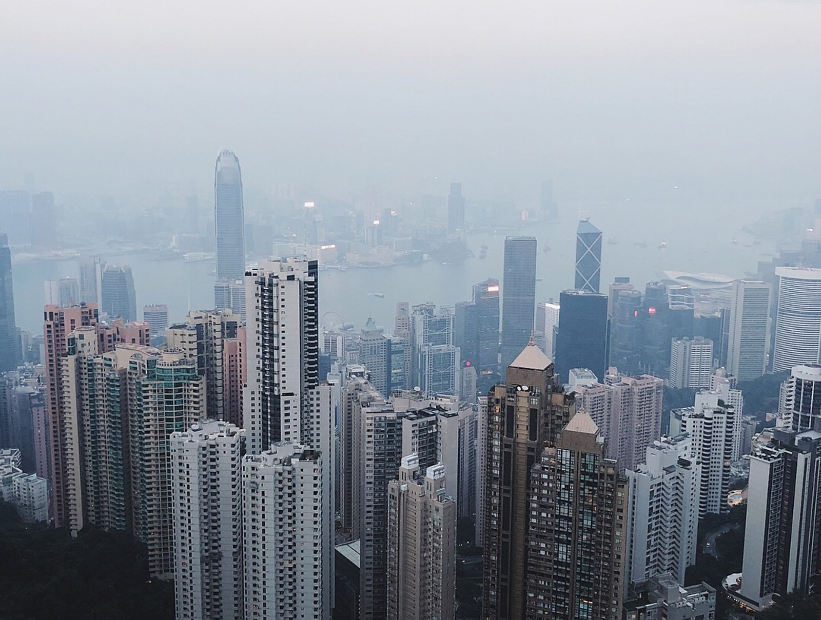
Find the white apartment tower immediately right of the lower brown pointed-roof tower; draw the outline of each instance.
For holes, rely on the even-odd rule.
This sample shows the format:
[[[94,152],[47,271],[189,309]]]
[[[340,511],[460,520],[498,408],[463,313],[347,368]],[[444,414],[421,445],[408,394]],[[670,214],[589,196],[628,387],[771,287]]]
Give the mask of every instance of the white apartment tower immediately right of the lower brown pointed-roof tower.
[[[701,467],[690,460],[691,443],[687,435],[662,437],[648,447],[644,463],[626,472],[630,582],[669,572],[684,583],[695,564]]]

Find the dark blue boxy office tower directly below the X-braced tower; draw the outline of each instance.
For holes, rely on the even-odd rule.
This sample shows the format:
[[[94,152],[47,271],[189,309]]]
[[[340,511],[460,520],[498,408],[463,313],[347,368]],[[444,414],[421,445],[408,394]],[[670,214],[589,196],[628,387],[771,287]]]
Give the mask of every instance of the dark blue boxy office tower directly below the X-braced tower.
[[[559,305],[556,374],[567,381],[571,368],[588,368],[603,381],[608,362],[608,296],[565,290]]]

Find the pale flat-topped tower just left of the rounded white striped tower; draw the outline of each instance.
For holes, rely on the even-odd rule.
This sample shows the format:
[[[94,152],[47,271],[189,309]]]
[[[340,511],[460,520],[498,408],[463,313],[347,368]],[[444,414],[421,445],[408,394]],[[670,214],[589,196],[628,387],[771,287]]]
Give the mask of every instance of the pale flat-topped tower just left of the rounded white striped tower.
[[[750,381],[764,374],[769,294],[769,285],[761,280],[736,280],[732,284],[727,372],[739,381]]]

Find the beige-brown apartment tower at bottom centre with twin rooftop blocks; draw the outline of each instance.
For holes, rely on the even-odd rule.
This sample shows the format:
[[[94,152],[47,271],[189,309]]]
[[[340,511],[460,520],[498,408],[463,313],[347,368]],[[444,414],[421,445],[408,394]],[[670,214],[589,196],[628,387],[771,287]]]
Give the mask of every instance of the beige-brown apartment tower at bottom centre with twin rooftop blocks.
[[[456,500],[440,463],[402,457],[388,483],[388,620],[456,618]]]

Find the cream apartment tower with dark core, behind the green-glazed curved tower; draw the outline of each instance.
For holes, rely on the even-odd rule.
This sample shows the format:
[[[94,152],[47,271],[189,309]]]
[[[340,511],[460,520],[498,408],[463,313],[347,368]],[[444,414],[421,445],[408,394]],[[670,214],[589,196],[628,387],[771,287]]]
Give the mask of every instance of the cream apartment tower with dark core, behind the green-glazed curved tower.
[[[227,419],[226,383],[232,377],[226,372],[226,347],[236,340],[240,326],[240,316],[231,310],[192,310],[186,322],[167,329],[168,346],[194,360],[197,373],[205,378],[205,407],[213,420]]]

